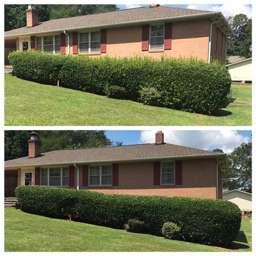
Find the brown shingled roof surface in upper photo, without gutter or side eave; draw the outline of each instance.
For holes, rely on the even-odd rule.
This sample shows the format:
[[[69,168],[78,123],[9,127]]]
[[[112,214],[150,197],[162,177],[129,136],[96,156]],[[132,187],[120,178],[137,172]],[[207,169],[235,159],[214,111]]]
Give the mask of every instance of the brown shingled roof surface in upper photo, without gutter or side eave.
[[[99,13],[70,17],[65,19],[47,20],[33,28],[18,28],[4,33],[5,36],[23,35],[30,33],[42,33],[47,31],[63,31],[74,28],[91,28],[95,26],[118,25],[129,22],[143,22],[145,20],[168,19],[173,17],[186,17],[188,15],[198,15],[212,13],[202,10],[192,10],[186,8],[176,8],[170,6],[159,6],[157,8],[141,7],[116,12]]]

